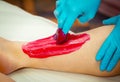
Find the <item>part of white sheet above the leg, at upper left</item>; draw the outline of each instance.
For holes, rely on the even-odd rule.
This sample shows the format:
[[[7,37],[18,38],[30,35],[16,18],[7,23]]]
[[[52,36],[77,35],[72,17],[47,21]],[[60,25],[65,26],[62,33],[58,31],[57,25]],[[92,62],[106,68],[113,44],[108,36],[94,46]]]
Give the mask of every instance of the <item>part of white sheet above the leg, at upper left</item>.
[[[52,35],[56,26],[47,19],[0,1],[0,36],[10,40],[35,40]]]

